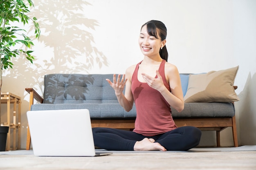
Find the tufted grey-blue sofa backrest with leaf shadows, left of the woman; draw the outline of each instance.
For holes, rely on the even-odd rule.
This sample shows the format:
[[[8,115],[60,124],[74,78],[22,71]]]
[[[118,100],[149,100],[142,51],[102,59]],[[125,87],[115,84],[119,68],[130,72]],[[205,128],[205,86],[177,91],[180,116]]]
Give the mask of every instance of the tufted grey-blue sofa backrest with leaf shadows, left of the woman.
[[[45,104],[118,103],[106,79],[113,74],[48,74],[44,77]]]

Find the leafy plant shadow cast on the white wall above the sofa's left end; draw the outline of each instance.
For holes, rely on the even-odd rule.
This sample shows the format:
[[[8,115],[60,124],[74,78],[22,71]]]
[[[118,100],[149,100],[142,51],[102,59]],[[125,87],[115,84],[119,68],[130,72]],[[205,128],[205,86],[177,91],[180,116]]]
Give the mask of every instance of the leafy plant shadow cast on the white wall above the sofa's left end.
[[[33,65],[25,62],[25,57],[15,59],[7,77],[20,77],[22,82],[29,82],[27,86],[36,84],[42,90],[45,74],[89,73],[94,66],[108,66],[106,56],[96,47],[90,33],[99,23],[85,16],[84,7],[92,4],[85,0],[41,0],[34,5],[31,16],[38,19],[41,29],[38,41],[43,53],[35,56]],[[34,28],[31,26],[28,32],[34,32]],[[48,49],[52,56],[47,53]]]

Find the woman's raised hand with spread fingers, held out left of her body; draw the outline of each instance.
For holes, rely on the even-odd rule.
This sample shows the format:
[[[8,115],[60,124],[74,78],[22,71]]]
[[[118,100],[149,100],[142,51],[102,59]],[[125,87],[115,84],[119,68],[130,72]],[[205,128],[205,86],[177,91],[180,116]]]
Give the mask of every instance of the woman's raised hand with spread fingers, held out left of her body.
[[[115,90],[115,94],[117,96],[121,95],[124,91],[124,86],[126,84],[127,79],[125,79],[125,74],[122,76],[119,74],[116,78],[116,74],[113,75],[113,82],[110,79],[106,79],[110,86]]]

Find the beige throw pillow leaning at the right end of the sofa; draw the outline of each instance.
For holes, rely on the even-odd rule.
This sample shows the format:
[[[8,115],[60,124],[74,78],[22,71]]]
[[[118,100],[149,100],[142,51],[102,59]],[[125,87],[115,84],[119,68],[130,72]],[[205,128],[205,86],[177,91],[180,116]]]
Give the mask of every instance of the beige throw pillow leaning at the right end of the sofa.
[[[239,98],[233,87],[239,66],[205,74],[189,75],[185,103],[235,102]]]

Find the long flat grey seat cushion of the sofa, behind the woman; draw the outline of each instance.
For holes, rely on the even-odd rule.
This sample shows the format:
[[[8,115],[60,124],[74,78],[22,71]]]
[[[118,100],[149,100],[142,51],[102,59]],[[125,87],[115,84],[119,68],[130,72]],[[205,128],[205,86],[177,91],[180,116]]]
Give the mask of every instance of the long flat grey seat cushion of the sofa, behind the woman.
[[[90,111],[92,119],[135,118],[136,108],[126,112],[119,104],[34,104],[31,110],[84,109]],[[172,108],[173,117],[233,117],[235,108],[232,103],[185,103],[184,110],[177,112]]]

